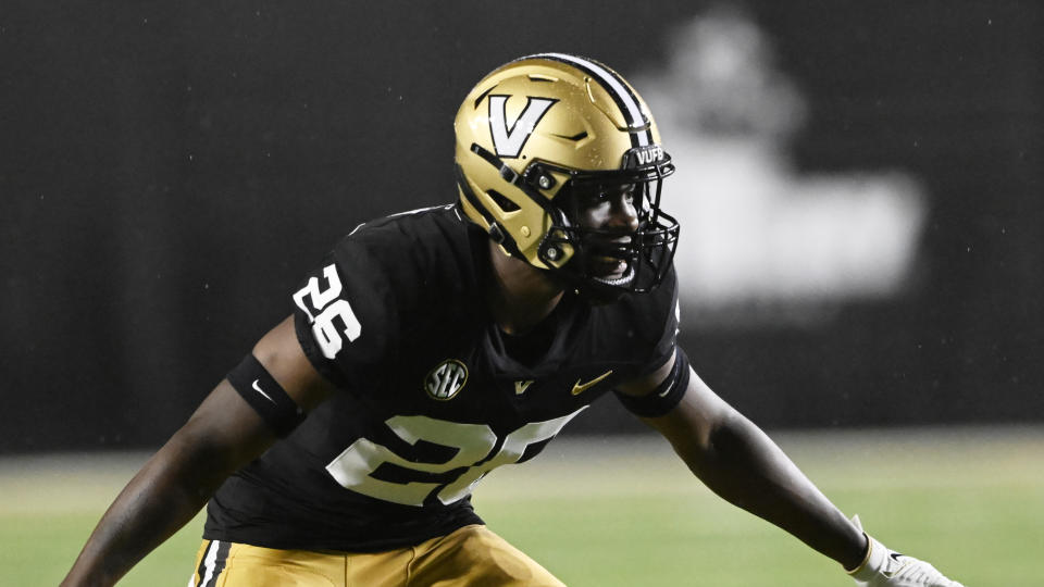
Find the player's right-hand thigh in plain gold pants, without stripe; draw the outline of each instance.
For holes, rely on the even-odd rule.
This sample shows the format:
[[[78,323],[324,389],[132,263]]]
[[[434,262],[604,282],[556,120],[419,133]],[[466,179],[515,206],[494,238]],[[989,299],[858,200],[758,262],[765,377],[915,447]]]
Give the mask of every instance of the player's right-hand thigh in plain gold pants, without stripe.
[[[464,526],[417,547],[410,586],[564,587],[521,550],[482,525]]]

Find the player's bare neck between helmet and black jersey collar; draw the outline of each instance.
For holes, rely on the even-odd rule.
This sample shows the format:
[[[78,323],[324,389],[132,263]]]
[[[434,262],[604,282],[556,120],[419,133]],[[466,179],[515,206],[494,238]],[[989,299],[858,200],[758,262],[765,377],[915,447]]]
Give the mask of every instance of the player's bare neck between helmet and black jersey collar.
[[[562,288],[544,272],[508,257],[495,243],[489,245],[494,278],[487,296],[489,310],[500,329],[525,334],[555,311],[562,299]]]

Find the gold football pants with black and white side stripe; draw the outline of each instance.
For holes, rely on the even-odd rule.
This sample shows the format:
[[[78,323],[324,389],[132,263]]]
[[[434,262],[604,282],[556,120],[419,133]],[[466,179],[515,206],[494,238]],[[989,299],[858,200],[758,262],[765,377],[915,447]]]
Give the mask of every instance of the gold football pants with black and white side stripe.
[[[483,525],[386,552],[276,550],[203,540],[189,587],[564,587]]]

